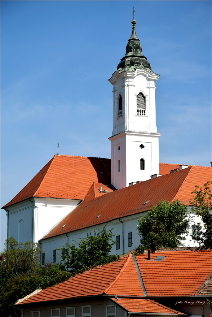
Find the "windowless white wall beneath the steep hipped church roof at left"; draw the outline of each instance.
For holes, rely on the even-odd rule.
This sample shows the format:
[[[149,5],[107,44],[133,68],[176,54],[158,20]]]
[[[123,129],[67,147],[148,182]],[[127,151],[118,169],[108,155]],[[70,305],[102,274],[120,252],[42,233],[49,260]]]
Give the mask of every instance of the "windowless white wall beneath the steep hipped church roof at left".
[[[81,200],[33,197],[6,207],[8,237],[19,242],[37,242]]]

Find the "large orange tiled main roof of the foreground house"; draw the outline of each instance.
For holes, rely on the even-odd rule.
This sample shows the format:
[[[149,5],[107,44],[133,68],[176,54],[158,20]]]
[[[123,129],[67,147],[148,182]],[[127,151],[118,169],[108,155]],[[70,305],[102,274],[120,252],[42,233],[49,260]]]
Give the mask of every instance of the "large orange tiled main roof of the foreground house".
[[[146,253],[136,256],[147,296],[195,295],[211,274],[211,252],[157,251],[151,253],[150,260]],[[165,258],[154,261],[156,256]],[[18,305],[102,294],[145,298],[134,259],[129,254],[117,262],[91,269],[23,299]],[[123,306],[126,305],[127,302]],[[132,307],[137,309],[136,305],[135,302]]]

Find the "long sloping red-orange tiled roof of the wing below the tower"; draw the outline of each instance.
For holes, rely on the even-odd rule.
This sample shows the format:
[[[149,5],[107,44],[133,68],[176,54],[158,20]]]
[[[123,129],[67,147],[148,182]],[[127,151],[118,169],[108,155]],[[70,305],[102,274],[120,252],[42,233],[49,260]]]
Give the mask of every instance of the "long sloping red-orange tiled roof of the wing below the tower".
[[[189,205],[195,185],[201,187],[210,179],[211,167],[192,166],[84,200],[63,219],[64,229],[60,222],[43,239],[150,210],[162,199],[178,199]],[[146,201],[149,202],[144,204]]]

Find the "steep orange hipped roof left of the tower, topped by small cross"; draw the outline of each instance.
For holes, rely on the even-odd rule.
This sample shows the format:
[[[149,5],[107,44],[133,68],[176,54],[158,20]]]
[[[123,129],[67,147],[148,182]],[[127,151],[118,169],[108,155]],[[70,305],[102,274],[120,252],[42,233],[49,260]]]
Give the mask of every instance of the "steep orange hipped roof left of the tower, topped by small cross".
[[[55,154],[3,208],[33,196],[83,200],[92,181],[110,185],[109,172],[110,159]]]

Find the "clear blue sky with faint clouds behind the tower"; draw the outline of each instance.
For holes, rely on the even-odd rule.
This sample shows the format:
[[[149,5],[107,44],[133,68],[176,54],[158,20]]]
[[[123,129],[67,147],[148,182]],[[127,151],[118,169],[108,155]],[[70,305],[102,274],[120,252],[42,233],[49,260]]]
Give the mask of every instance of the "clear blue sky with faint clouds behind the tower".
[[[211,1],[1,1],[1,206],[57,152],[110,158],[112,86],[135,7],[160,162],[211,162]],[[6,239],[1,210],[1,250]]]

